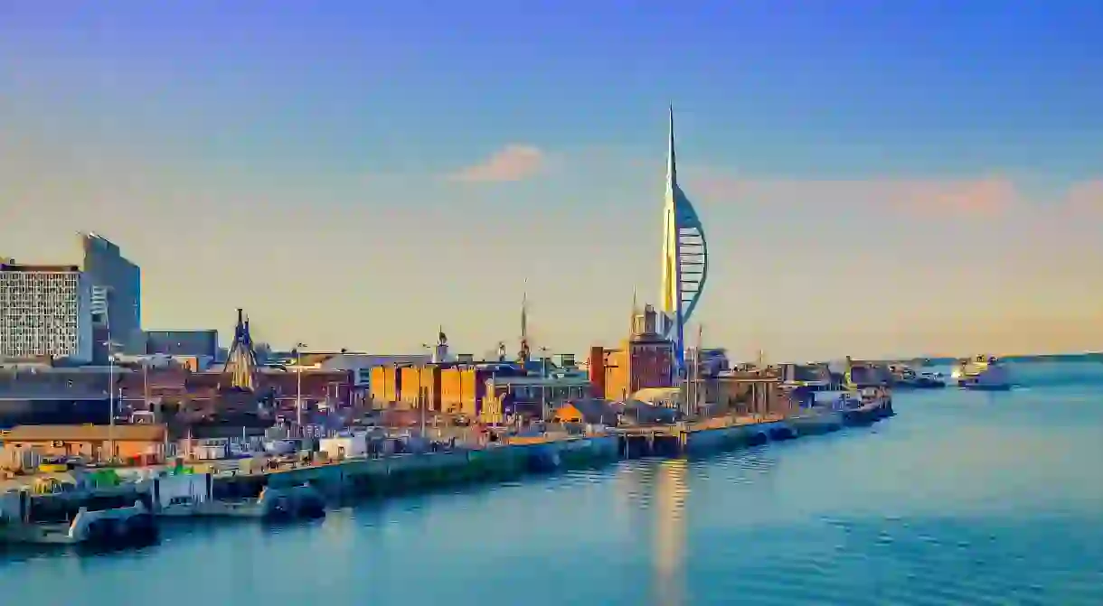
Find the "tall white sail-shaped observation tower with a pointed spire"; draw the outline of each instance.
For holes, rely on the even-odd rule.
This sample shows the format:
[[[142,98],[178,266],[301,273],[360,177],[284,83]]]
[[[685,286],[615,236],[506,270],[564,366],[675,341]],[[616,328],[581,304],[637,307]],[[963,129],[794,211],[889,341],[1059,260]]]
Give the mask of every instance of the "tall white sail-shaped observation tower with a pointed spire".
[[[666,199],[663,208],[663,273],[660,309],[662,336],[674,343],[676,369],[685,369],[685,325],[705,292],[708,246],[693,204],[678,186],[674,154],[674,109],[670,116],[666,155]]]

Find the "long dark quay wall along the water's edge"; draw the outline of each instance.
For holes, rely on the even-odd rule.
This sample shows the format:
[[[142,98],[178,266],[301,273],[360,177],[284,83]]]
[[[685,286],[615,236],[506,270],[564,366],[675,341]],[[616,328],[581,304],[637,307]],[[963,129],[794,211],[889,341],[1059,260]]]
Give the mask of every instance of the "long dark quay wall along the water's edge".
[[[287,489],[310,486],[331,500],[357,496],[387,496],[473,481],[500,481],[527,474],[549,473],[612,463],[635,456],[699,456],[742,446],[815,435],[845,426],[868,425],[893,414],[891,401],[857,409],[817,409],[800,416],[750,424],[685,424],[653,428],[650,432],[621,431],[526,444],[492,444],[481,450],[405,454],[357,458],[279,470],[234,475],[162,477],[110,488],[76,489],[53,495],[25,490],[0,495],[0,513],[15,526],[43,523],[69,526],[82,509],[84,518],[99,509],[129,507],[136,501],[159,513],[174,499],[256,498],[265,487]],[[208,484],[210,481],[210,484]],[[228,502],[228,501],[227,501]],[[10,539],[10,538],[9,538]]]

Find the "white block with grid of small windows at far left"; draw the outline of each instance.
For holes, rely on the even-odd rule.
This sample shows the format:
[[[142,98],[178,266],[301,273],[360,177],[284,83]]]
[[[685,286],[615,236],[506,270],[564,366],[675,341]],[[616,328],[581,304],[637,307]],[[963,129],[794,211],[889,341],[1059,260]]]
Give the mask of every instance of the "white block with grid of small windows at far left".
[[[0,264],[0,359],[92,357],[92,289],[81,269]]]

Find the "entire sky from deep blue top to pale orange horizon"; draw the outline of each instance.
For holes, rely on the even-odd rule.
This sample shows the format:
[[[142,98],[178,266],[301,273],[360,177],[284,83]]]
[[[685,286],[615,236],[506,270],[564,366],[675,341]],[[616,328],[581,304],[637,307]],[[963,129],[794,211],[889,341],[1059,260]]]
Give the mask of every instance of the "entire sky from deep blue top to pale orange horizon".
[[[615,344],[666,108],[705,346],[1103,349],[1103,4],[0,0],[0,256],[142,268],[147,328]],[[687,334],[696,339],[698,331]]]

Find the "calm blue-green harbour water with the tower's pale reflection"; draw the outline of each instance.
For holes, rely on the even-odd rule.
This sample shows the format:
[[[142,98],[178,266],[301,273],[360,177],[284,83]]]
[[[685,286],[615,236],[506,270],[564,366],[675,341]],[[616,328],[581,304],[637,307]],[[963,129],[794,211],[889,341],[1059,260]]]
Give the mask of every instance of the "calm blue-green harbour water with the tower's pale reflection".
[[[1017,369],[1018,370],[1018,369]],[[11,604],[1103,604],[1103,365],[706,461],[0,554]]]

